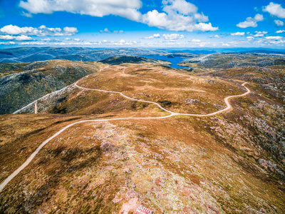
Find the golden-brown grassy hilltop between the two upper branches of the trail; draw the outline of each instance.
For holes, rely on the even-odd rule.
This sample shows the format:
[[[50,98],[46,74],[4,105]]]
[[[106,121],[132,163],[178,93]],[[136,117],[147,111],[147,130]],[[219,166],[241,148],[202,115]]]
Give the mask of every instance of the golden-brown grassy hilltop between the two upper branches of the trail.
[[[80,85],[120,91],[132,98],[162,103],[168,110],[179,113],[212,113],[224,108],[226,96],[243,92],[234,83],[181,76],[153,64],[112,66],[83,79]]]

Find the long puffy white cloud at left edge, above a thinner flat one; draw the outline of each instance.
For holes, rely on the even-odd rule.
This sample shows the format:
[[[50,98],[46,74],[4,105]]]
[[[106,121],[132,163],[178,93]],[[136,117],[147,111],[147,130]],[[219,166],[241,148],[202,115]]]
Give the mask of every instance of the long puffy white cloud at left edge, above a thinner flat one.
[[[26,36],[71,36],[76,34],[78,30],[73,27],[61,28],[47,28],[42,25],[38,28],[33,27],[19,27],[16,25],[6,25],[0,29],[0,34],[10,35],[26,35]]]

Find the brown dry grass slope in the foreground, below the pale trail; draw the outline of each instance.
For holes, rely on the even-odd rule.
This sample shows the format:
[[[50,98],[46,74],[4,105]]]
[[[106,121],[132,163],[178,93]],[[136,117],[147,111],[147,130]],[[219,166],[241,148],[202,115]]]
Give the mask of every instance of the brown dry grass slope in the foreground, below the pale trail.
[[[73,126],[9,183],[2,208],[118,213],[137,198],[155,213],[283,212],[281,185],[240,165],[247,161],[209,136],[207,123],[177,117]]]

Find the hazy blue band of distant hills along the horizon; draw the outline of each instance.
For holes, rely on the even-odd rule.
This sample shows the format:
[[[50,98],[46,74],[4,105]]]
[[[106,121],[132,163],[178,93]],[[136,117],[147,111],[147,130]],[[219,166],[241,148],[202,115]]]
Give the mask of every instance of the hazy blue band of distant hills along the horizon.
[[[214,53],[264,53],[285,54],[285,51],[275,49],[87,49],[78,47],[21,47],[0,50],[0,63],[20,63],[45,61],[51,59],[66,59],[71,61],[100,61],[113,56],[147,56],[147,55],[177,55],[214,54]]]

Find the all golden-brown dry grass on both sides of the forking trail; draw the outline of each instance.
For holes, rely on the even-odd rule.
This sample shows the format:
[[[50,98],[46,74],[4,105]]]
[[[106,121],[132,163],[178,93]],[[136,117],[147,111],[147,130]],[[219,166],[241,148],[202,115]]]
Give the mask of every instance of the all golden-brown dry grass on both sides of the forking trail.
[[[179,76],[152,64],[112,66],[80,85],[171,101],[167,109],[187,113],[217,111],[208,104],[244,93],[240,82]],[[232,99],[234,109],[214,117],[90,122],[68,128],[0,193],[0,213],[120,213],[130,203],[155,213],[284,213],[284,178],[258,162],[271,160],[280,167],[281,156],[272,158],[262,147],[271,136],[256,121],[250,123],[264,118],[279,130],[272,121],[284,110],[272,110],[278,103],[261,86],[249,87],[254,93]],[[209,103],[188,106],[186,98]],[[257,100],[269,106],[259,109]],[[73,121],[166,114],[118,95],[78,89],[49,109],[70,116],[0,117],[0,168],[8,172],[1,173],[2,180],[41,141]]]

